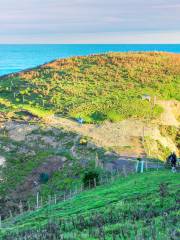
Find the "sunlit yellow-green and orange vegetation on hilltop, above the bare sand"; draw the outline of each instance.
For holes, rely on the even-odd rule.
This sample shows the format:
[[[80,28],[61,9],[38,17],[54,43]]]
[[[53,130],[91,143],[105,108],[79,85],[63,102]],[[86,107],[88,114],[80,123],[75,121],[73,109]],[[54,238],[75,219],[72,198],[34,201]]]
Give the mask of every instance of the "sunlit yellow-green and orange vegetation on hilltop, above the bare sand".
[[[180,100],[180,57],[168,53],[109,53],[57,60],[0,79],[3,112],[50,110],[87,122],[156,118],[160,99]],[[142,101],[149,94],[152,101]],[[46,110],[44,112],[44,110]]]

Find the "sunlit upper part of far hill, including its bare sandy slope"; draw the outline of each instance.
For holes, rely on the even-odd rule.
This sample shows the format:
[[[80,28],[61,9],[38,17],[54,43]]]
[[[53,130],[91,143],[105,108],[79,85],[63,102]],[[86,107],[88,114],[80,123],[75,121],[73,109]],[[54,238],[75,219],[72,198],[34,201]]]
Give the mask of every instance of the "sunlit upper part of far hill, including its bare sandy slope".
[[[0,118],[17,119],[24,109],[122,155],[164,159],[161,152],[178,152],[179,87],[178,54],[109,53],[61,59],[0,78]],[[144,94],[150,101],[142,100]],[[76,127],[71,120],[77,117],[86,123],[118,124],[101,125],[102,134],[93,126]],[[164,135],[163,126],[167,126]],[[151,141],[153,147],[147,149]]]

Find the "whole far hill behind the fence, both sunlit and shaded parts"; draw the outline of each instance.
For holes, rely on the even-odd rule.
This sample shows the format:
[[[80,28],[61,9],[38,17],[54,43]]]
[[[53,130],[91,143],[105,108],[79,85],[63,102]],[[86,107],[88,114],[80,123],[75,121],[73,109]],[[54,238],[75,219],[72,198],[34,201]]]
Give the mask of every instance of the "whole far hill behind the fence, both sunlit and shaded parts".
[[[1,215],[37,191],[47,199],[79,186],[97,160],[131,172],[139,156],[178,153],[179,84],[180,57],[167,53],[74,57],[0,78]]]

